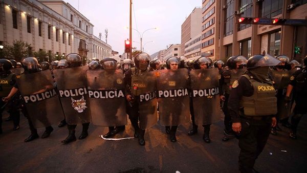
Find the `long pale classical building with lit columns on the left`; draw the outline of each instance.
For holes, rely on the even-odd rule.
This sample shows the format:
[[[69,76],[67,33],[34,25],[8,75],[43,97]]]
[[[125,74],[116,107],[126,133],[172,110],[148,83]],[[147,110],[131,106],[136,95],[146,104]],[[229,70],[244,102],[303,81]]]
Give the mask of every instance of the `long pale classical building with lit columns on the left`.
[[[29,50],[44,49],[50,56],[111,56],[112,47],[93,35],[93,27],[89,19],[63,1],[4,0],[0,6],[1,45],[21,40],[31,44]]]

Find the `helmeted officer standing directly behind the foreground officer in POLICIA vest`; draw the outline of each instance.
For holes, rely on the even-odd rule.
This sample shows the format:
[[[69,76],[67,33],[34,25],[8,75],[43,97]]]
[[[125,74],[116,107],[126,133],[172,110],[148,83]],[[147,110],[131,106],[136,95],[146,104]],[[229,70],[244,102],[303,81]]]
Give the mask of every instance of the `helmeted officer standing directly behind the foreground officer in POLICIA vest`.
[[[245,65],[246,65],[247,59],[244,56],[231,56],[227,59],[227,66],[228,69],[225,69],[224,72],[221,75],[220,79],[220,98],[222,101],[224,101],[222,111],[224,112],[224,137],[223,141],[228,141],[231,138],[234,138],[234,133],[231,129],[231,117],[229,115],[227,103],[229,94],[231,91],[231,86],[233,82],[242,74],[245,73]]]

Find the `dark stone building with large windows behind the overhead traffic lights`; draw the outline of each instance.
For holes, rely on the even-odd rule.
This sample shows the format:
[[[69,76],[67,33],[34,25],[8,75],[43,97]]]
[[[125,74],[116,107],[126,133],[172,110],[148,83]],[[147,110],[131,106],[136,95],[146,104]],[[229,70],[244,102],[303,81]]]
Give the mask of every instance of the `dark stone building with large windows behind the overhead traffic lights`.
[[[307,26],[238,24],[239,17],[306,19],[307,1],[224,0],[220,7],[221,32],[216,34],[220,35],[221,59],[268,53],[301,61],[307,54]],[[295,46],[302,47],[302,53],[296,54]]]

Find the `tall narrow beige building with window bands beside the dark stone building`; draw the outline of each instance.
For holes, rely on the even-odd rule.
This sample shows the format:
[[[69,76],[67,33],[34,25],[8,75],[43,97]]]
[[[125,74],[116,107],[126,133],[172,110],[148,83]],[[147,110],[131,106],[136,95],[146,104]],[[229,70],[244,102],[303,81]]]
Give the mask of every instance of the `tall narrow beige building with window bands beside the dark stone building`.
[[[221,1],[203,0],[202,5],[202,56],[218,59],[220,56],[220,4]]]

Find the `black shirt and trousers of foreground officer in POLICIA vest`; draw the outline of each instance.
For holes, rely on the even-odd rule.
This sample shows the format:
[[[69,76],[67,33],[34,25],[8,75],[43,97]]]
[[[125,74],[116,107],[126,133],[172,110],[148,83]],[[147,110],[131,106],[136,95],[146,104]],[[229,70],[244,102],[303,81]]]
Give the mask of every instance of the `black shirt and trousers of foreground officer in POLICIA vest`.
[[[250,73],[247,73],[252,76]],[[257,79],[255,79],[257,80]],[[241,172],[252,172],[255,160],[264,149],[270,135],[272,115],[245,116],[240,100],[243,96],[250,97],[254,88],[250,81],[241,76],[237,79],[237,87],[233,87],[228,100],[232,122],[240,122],[242,129],[239,134],[239,169]]]

